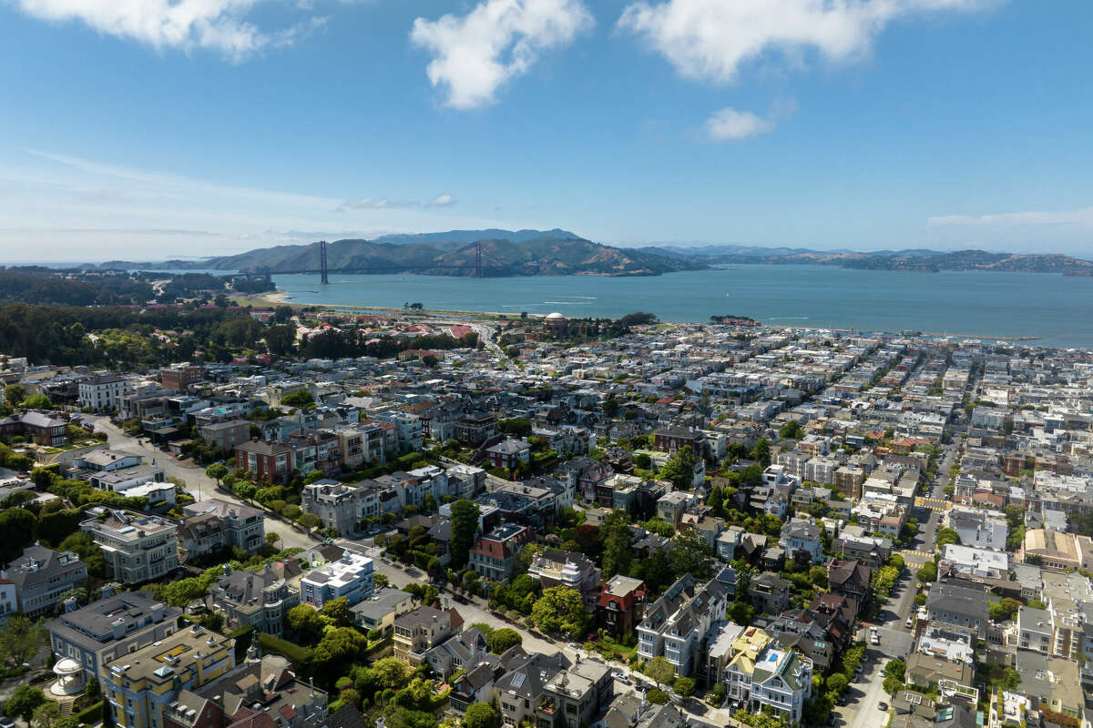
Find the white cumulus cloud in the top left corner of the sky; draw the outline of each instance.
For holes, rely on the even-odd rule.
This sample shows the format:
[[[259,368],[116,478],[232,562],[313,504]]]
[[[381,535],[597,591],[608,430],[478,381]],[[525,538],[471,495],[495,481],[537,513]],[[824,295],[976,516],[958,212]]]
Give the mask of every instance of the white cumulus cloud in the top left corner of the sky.
[[[239,61],[267,46],[291,45],[325,23],[312,17],[267,32],[246,20],[257,0],[10,0],[33,17],[79,21],[162,51],[213,50]]]

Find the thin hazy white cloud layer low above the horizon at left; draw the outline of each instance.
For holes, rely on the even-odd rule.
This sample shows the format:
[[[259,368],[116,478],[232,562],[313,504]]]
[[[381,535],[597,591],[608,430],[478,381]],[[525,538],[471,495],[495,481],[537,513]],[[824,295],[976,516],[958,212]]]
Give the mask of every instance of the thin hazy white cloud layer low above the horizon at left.
[[[162,260],[298,241],[284,230],[325,230],[312,240],[334,240],[519,227],[493,213],[461,212],[450,193],[423,193],[402,205],[377,195],[374,201],[386,203],[336,212],[346,198],[24,153],[0,155],[0,251],[12,261]]]

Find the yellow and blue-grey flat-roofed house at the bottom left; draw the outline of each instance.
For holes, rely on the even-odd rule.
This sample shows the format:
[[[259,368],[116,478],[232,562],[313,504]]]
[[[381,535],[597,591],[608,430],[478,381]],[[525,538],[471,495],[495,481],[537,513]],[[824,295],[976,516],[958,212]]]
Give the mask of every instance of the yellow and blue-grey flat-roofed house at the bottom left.
[[[163,728],[180,690],[193,690],[235,667],[235,640],[199,625],[176,632],[99,667],[103,696],[118,728]]]

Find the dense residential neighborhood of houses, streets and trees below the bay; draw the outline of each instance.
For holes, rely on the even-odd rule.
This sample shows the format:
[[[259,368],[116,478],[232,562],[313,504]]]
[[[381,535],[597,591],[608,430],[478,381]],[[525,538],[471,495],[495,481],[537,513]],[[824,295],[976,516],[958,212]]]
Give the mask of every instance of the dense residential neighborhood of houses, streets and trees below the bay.
[[[0,359],[9,717],[1089,725],[1093,354],[281,320],[437,345]]]

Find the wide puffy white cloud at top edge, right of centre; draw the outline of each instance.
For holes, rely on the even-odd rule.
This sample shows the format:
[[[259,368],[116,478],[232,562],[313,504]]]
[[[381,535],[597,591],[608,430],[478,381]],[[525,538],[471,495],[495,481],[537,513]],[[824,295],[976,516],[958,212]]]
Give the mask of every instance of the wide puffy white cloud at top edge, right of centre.
[[[845,61],[868,51],[891,21],[916,12],[972,11],[997,0],[638,0],[619,27],[644,37],[684,76],[733,81],[766,53],[818,52]]]

